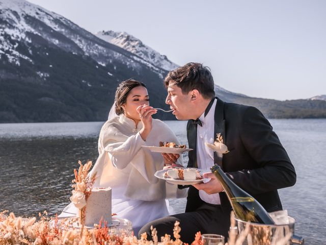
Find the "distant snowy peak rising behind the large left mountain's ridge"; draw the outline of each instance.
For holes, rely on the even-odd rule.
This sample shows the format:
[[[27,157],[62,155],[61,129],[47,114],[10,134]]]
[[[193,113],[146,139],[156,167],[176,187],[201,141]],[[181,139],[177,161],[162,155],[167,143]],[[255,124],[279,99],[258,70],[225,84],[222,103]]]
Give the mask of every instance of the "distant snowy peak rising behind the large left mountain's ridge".
[[[168,71],[178,67],[177,64],[170,61],[165,55],[159,54],[151,47],[145,45],[141,40],[126,32],[101,31],[96,33],[96,36],[106,42],[122,47],[124,50],[139,56],[154,66]]]

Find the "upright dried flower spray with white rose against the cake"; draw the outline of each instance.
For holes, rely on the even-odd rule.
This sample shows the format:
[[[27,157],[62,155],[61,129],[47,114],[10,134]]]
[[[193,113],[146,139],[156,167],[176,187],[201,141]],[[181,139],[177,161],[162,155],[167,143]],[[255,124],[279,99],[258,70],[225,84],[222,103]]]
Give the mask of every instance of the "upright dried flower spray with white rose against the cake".
[[[85,212],[86,202],[92,193],[92,188],[95,182],[95,176],[89,177],[88,172],[92,167],[92,161],[88,161],[85,165],[78,161],[79,168],[74,169],[75,178],[72,180],[74,183],[71,187],[74,188],[70,201],[79,209],[79,223],[85,225]]]

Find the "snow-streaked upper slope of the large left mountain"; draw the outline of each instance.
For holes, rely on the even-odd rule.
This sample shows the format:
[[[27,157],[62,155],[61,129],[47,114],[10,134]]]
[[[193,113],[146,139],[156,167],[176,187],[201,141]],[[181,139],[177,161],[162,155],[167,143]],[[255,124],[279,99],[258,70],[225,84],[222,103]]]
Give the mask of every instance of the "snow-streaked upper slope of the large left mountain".
[[[0,58],[6,56],[15,65],[19,65],[21,59],[33,63],[29,55],[19,51],[19,42],[32,46],[36,45],[35,41],[45,39],[52,46],[73,54],[89,56],[101,65],[114,61],[131,70],[138,70],[139,73],[145,65],[160,78],[166,73],[166,68],[158,63],[148,62],[117,45],[103,41],[63,16],[25,0],[0,0],[0,19]],[[31,49],[29,52],[31,54]]]

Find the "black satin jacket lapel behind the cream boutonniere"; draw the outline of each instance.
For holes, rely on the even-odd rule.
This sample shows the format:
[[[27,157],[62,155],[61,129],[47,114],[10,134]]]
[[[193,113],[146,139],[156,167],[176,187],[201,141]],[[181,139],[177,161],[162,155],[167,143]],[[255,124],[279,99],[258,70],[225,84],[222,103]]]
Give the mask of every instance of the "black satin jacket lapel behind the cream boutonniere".
[[[225,119],[224,119],[224,102],[221,101],[218,97],[218,100],[215,107],[215,114],[214,114],[214,140],[216,139],[216,135],[218,133],[222,134],[223,143],[226,144],[226,137],[225,137]],[[214,163],[222,166],[222,158],[218,156],[216,152],[214,152]]]

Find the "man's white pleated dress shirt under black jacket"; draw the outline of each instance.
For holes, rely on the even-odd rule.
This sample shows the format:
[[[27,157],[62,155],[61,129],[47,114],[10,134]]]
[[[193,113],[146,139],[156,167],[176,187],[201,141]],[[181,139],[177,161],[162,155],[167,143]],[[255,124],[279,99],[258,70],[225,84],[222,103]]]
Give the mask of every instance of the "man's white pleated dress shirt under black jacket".
[[[210,171],[210,168],[214,165],[213,150],[205,145],[205,142],[213,143],[214,138],[214,113],[217,100],[215,99],[210,107],[207,115],[205,112],[199,117],[202,122],[202,127],[197,125],[197,165],[198,168]],[[203,190],[199,190],[200,198],[209,204],[221,204],[219,193],[207,194]]]

